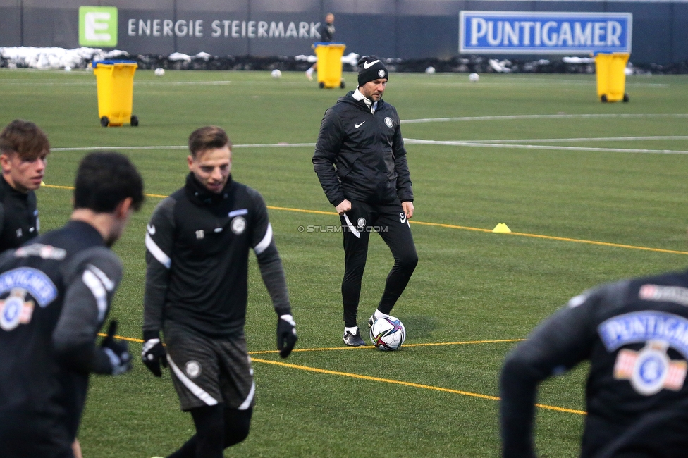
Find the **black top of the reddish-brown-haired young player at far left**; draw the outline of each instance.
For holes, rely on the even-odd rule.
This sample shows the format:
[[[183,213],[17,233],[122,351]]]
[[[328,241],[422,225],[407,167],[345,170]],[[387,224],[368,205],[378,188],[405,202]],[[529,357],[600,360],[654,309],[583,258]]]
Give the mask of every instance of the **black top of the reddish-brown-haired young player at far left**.
[[[0,174],[0,252],[36,237],[38,230],[35,192],[19,192]]]

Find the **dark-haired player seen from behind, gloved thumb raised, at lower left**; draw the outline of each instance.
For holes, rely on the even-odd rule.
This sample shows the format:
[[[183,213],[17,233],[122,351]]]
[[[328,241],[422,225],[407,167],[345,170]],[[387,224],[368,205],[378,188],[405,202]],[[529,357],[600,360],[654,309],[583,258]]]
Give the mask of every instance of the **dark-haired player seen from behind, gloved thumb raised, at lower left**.
[[[115,327],[96,345],[122,277],[109,247],[143,200],[118,153],[93,153],[63,228],[0,257],[0,455],[71,458],[90,373],[130,369]]]

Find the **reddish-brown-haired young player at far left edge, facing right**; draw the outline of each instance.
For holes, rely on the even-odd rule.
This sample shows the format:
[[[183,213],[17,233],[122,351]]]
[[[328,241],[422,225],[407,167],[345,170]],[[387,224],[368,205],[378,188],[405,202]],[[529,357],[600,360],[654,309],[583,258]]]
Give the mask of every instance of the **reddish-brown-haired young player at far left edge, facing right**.
[[[0,132],[0,252],[38,235],[34,190],[41,187],[50,144],[34,123],[13,120]]]

